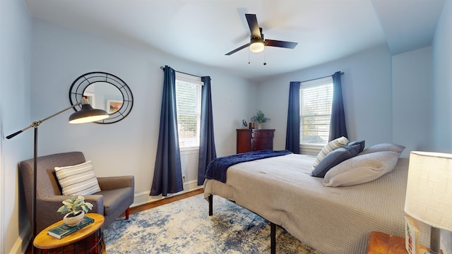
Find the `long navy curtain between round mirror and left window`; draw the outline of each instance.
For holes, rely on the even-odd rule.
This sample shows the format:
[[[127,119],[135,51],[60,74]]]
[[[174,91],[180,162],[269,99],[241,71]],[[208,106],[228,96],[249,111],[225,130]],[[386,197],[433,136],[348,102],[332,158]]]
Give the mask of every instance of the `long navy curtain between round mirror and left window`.
[[[176,73],[169,66],[164,69],[160,131],[153,185],[150,195],[167,196],[184,190],[182,183],[181,153],[177,134]]]

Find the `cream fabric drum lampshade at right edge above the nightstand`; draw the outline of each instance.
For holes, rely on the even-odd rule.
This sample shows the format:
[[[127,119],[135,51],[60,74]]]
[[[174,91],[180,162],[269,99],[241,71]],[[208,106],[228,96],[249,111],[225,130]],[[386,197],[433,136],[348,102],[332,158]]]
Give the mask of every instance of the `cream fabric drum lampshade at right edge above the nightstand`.
[[[438,229],[452,231],[452,155],[410,153],[405,212]]]

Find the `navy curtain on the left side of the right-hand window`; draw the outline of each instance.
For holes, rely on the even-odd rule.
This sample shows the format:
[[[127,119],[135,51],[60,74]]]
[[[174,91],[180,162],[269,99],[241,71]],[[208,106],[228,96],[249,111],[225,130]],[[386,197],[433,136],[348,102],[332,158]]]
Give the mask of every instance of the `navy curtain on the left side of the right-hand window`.
[[[287,131],[285,149],[299,154],[299,85],[291,82],[289,88],[289,108],[287,110]]]

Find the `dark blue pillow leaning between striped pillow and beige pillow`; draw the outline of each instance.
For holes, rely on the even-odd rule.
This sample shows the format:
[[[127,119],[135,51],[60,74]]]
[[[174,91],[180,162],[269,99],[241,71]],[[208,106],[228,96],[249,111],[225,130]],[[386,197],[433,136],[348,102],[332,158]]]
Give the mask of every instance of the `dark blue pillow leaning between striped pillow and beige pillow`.
[[[340,164],[340,162],[345,161],[345,159],[355,157],[359,153],[359,147],[359,144],[347,145],[328,153],[328,155],[321,160],[319,165],[317,165],[316,169],[311,172],[311,176],[324,177],[326,172],[335,165]]]

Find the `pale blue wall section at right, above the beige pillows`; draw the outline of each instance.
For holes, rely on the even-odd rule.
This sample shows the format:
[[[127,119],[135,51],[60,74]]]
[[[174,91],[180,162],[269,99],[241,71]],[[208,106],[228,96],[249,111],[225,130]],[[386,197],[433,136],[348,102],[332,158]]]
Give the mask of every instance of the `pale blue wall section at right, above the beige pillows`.
[[[432,150],[432,48],[424,47],[392,58],[393,143],[412,150]]]

